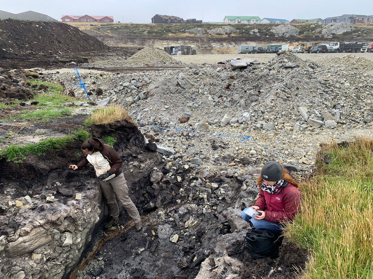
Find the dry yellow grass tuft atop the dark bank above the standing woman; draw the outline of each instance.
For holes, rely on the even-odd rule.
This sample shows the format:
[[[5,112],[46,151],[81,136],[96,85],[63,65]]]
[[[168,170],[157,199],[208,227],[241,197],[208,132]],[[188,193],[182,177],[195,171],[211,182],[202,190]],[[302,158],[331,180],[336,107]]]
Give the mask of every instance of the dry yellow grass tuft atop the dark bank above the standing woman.
[[[87,118],[84,124],[100,125],[113,123],[115,121],[127,121],[135,124],[132,118],[128,115],[127,110],[117,105],[111,105],[93,110],[92,115]]]

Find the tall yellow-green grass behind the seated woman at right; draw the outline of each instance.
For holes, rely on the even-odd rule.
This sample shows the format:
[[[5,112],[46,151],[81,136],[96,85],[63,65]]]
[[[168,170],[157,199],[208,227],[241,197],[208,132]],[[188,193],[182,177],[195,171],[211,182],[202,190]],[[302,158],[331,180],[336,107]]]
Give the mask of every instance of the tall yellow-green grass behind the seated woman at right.
[[[311,251],[303,279],[372,278],[373,141],[322,147],[286,232]]]

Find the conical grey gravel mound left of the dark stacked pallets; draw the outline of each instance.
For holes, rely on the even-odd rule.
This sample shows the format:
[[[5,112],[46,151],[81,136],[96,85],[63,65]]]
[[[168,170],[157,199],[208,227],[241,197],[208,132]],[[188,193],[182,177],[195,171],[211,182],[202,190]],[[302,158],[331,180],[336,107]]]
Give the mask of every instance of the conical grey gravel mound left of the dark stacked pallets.
[[[166,63],[176,64],[171,55],[159,48],[145,47],[126,60],[128,66],[162,65]]]

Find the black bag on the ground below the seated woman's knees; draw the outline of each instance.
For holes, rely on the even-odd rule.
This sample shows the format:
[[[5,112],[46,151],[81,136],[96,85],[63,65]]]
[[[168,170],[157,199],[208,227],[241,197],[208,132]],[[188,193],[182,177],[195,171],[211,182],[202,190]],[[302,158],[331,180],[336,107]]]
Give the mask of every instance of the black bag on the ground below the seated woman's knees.
[[[253,259],[277,258],[282,240],[283,236],[272,231],[250,229],[246,233],[247,249]]]

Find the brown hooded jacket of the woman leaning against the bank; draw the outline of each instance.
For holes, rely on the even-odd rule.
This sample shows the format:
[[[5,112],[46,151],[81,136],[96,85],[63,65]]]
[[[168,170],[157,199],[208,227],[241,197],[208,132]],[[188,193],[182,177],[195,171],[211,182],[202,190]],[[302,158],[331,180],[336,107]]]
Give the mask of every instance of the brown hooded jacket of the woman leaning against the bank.
[[[115,149],[110,145],[104,144],[104,142],[98,138],[92,138],[88,142],[94,147],[94,152],[99,151],[109,162],[111,167],[110,170],[108,170],[109,173],[118,174],[120,172],[120,167],[122,166],[122,159],[119,157],[118,153],[116,153]],[[87,166],[88,163],[87,155],[84,155],[84,159],[76,166],[78,166],[78,169],[82,169]]]

